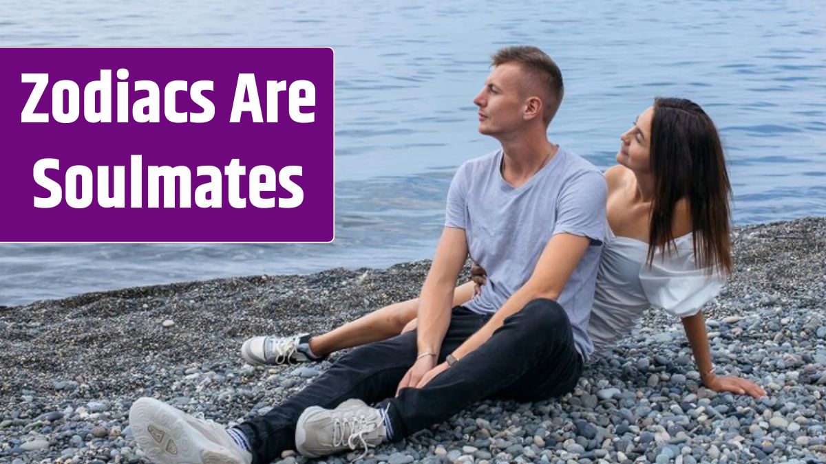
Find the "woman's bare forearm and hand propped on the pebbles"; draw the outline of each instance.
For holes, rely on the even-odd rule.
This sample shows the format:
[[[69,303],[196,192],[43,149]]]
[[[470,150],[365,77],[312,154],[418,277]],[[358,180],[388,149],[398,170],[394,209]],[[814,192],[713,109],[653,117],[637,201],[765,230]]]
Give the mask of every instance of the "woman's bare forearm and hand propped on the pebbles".
[[[751,381],[735,376],[718,376],[714,373],[702,311],[682,318],[682,327],[686,329],[688,343],[691,343],[691,351],[694,353],[697,368],[700,370],[700,380],[706,388],[713,391],[731,391],[738,395],[748,393],[755,398],[766,396],[766,391]]]

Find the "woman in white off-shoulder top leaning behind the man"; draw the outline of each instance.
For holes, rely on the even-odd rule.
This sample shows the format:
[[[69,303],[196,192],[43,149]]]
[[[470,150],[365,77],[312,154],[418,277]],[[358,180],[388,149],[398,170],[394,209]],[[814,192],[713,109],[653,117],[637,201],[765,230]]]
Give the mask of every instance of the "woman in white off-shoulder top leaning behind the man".
[[[629,334],[649,307],[680,317],[700,378],[710,390],[764,396],[751,381],[717,376],[700,307],[732,272],[731,187],[714,123],[694,102],[657,98],[619,137],[618,166],[605,172],[609,237],[605,239],[589,335],[601,353]],[[484,283],[484,271],[474,269]],[[453,305],[479,287],[458,286]],[[252,364],[319,360],[342,348],[415,329],[417,299],[389,305],[310,337],[254,337],[241,354]]]

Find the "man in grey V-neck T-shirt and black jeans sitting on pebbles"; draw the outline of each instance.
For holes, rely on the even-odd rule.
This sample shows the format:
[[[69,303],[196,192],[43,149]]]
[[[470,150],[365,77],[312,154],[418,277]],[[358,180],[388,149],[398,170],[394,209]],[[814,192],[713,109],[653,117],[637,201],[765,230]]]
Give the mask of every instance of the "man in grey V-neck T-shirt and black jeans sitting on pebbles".
[[[586,328],[605,234],[605,181],[551,144],[562,74],[535,47],[499,50],[474,103],[501,149],[464,163],[421,291],[418,329],[356,348],[268,414],[225,429],[135,401],[130,423],[157,462],[270,462],[400,440],[496,396],[571,391],[591,353]],[[450,309],[468,252],[488,285]],[[372,407],[367,403],[377,403]],[[334,409],[325,409],[334,408]]]

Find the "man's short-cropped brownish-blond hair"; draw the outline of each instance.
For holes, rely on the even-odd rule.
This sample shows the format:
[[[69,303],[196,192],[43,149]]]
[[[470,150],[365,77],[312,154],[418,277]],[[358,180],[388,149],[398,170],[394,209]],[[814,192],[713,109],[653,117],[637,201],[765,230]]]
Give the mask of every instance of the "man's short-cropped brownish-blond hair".
[[[491,57],[493,66],[505,63],[519,63],[539,83],[539,88],[544,90],[542,121],[545,125],[550,124],[563,102],[565,92],[563,73],[557,64],[548,54],[532,45],[505,47]]]

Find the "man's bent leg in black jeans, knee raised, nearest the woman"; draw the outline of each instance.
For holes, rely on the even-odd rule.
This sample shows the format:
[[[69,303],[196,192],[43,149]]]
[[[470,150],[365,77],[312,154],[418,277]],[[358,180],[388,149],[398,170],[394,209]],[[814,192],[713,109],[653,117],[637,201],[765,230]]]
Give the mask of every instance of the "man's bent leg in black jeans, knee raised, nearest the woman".
[[[455,348],[443,345],[440,358]],[[403,389],[389,400],[393,438],[401,439],[491,395],[539,400],[577,385],[582,358],[562,306],[534,300],[481,347],[436,376],[425,388]]]

